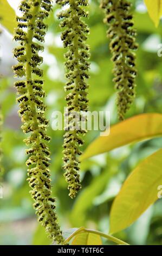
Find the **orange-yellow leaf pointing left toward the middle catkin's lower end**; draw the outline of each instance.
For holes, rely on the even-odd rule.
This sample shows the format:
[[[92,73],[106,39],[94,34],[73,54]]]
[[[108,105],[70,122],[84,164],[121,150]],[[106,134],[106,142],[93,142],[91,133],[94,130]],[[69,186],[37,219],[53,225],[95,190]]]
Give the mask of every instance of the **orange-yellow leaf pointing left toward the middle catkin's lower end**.
[[[162,114],[136,115],[113,125],[108,136],[100,136],[95,139],[82,154],[80,161],[129,143],[143,141],[160,135],[162,135]]]

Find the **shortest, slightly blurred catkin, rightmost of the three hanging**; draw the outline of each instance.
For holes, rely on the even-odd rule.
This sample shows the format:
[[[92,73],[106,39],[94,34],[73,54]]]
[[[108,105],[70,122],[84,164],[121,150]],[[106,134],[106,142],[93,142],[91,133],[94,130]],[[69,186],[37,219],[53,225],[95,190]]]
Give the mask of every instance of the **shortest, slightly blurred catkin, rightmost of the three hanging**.
[[[108,25],[107,36],[111,40],[110,49],[114,62],[114,83],[118,90],[117,106],[120,120],[131,106],[135,96],[135,43],[136,31],[133,29],[131,3],[127,0],[102,0],[101,8],[105,11],[104,22]]]

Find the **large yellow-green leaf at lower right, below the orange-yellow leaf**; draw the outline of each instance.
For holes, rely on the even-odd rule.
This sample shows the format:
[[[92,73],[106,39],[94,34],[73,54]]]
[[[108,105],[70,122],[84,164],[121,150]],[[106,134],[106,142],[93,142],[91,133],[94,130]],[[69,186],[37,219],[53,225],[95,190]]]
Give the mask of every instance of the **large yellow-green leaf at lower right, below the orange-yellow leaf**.
[[[110,232],[127,228],[156,200],[162,185],[162,149],[142,161],[128,176],[111,209]]]

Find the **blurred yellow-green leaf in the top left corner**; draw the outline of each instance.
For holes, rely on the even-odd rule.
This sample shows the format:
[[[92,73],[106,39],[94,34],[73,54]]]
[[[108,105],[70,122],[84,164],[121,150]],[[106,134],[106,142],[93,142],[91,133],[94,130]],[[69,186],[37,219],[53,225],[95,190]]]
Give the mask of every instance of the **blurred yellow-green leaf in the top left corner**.
[[[0,0],[0,22],[10,33],[16,27],[16,14],[7,0]]]

